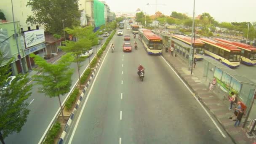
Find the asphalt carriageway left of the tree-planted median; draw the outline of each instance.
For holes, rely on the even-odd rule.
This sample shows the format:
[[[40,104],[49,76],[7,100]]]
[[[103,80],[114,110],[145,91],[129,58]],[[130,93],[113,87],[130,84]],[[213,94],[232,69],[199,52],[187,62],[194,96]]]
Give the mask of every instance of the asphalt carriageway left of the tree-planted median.
[[[103,44],[106,39],[107,38],[102,40],[101,44]],[[93,47],[93,55],[91,58],[93,58],[93,56],[96,54],[96,47],[97,50],[99,50],[100,45]],[[80,74],[84,71],[88,64],[88,59],[81,63],[82,67],[80,68]],[[74,69],[71,86],[73,87],[78,80],[77,64],[72,63],[70,67]],[[59,109],[58,98],[49,98],[48,96],[45,96],[44,93],[38,93],[38,88],[39,85],[33,85],[31,90],[32,95],[29,97],[29,99],[27,99],[28,103],[32,101],[32,103],[28,106],[28,109],[31,111],[27,117],[27,122],[22,127],[20,133],[13,133],[5,139],[6,144],[37,144]],[[64,101],[66,97],[67,94],[65,96],[61,96],[61,102]]]

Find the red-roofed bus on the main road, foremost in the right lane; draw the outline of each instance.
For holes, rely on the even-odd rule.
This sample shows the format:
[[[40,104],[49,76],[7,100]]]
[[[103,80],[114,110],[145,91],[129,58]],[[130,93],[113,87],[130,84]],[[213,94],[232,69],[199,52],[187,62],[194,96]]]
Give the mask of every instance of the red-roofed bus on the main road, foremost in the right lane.
[[[139,37],[148,54],[161,55],[163,52],[163,40],[149,29],[139,29]]]

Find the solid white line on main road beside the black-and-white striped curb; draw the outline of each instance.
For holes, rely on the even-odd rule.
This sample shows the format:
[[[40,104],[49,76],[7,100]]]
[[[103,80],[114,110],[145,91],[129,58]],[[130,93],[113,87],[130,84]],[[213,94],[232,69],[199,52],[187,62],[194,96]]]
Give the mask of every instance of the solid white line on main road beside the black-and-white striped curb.
[[[107,51],[107,54],[108,54],[108,52],[109,52],[109,50]],[[97,72],[97,74],[96,74],[95,79],[93,80],[93,84],[91,85],[91,89],[90,89],[90,91],[88,92],[88,95],[87,95],[87,97],[86,97],[86,99],[85,99],[85,103],[83,104],[82,110],[81,110],[81,112],[80,112],[80,114],[79,114],[79,116],[78,116],[78,119],[77,119],[76,123],[75,123],[75,127],[74,127],[74,130],[72,131],[72,134],[71,134],[71,137],[70,137],[70,139],[69,139],[69,143],[68,143],[68,144],[71,144],[71,143],[72,143],[72,140],[73,140],[73,138],[74,138],[74,136],[75,136],[75,131],[77,130],[77,126],[78,126],[78,124],[79,124],[79,122],[80,122],[81,116],[82,116],[83,111],[84,111],[84,109],[85,109],[85,105],[86,105],[86,103],[87,103],[87,101],[88,101],[88,99],[89,99],[89,97],[90,97],[91,91],[92,91],[93,86],[94,86],[94,84],[95,84],[95,82],[96,82],[96,80],[97,80],[98,74],[99,74],[99,72],[101,71],[101,67],[102,67],[102,65],[103,65],[103,63],[104,63],[104,61],[105,61],[105,59],[106,59],[106,57],[107,57],[107,54],[106,54],[106,56],[104,57],[104,59],[103,59],[103,61],[102,61],[102,63],[101,63],[101,66],[99,67],[99,70],[98,70],[98,72]]]

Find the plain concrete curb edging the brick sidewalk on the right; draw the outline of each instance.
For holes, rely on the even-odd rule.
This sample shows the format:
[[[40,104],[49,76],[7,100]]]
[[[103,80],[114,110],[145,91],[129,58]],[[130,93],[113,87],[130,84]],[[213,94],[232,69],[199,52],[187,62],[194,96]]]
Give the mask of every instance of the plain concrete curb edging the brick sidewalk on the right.
[[[163,55],[162,55],[163,56]],[[163,56],[163,58],[165,59],[165,57]],[[168,61],[167,59],[165,59],[165,61]],[[197,99],[201,102],[201,104],[203,104],[203,106],[205,108],[207,108],[209,111],[211,111],[211,109],[208,107],[208,105],[205,104],[205,101],[202,100],[201,96],[199,94],[197,94],[197,92],[191,87],[191,85],[189,85],[189,83],[187,82],[187,80],[185,80],[183,78],[183,76],[180,74],[180,72],[175,68],[175,66],[173,64],[171,64],[169,61],[168,63],[171,65],[171,67],[173,67],[173,69],[175,70],[175,72],[179,75],[179,77],[181,77],[181,79],[184,81],[184,83],[187,84],[187,86],[190,88],[190,90],[192,90],[193,93],[195,93],[195,96],[197,97]],[[211,111],[212,115],[214,116],[214,118],[216,120],[218,120],[219,124],[221,125],[221,127],[224,129],[224,131],[227,133],[227,135],[230,137],[230,139],[235,143],[235,139],[233,139],[233,137],[227,132],[226,128],[224,127],[224,125],[221,123],[221,121],[219,120],[219,118],[213,113],[213,111]]]

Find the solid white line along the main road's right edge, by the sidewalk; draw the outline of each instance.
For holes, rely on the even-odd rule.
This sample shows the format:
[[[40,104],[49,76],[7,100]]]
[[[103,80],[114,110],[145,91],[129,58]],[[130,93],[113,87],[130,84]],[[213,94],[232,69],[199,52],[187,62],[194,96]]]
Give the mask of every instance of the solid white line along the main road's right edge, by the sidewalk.
[[[171,67],[171,65],[163,58],[163,56],[161,56],[162,59],[166,62],[166,64],[173,70],[173,72],[177,75],[177,77],[179,77],[179,79],[181,80],[181,82],[187,87],[187,89],[189,90],[189,92],[192,94],[192,96],[194,96],[194,98],[197,100],[197,102],[200,104],[200,106],[204,109],[204,111],[206,112],[206,114],[208,115],[208,117],[210,117],[211,121],[213,122],[213,124],[216,126],[216,128],[219,130],[219,132],[221,133],[221,135],[226,138],[225,134],[221,131],[221,129],[219,128],[219,126],[217,125],[217,123],[213,120],[213,118],[211,117],[211,115],[207,112],[207,110],[205,109],[205,107],[203,107],[203,104],[201,104],[201,102],[197,99],[197,97],[195,96],[195,93],[192,92],[192,90],[190,90],[190,88],[187,86],[187,84],[181,79],[181,77],[174,71],[174,69]]]

